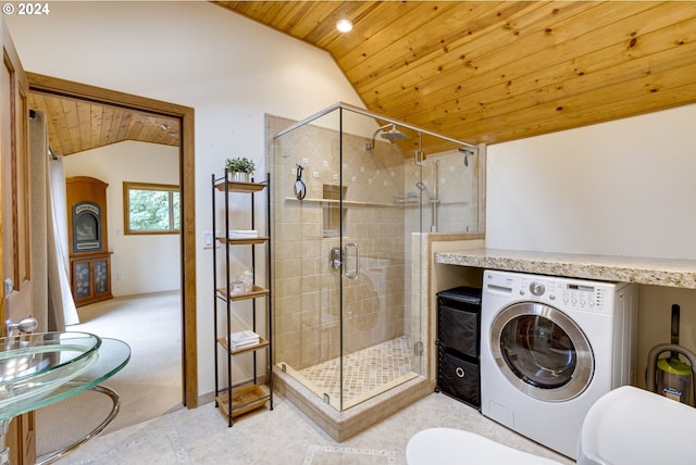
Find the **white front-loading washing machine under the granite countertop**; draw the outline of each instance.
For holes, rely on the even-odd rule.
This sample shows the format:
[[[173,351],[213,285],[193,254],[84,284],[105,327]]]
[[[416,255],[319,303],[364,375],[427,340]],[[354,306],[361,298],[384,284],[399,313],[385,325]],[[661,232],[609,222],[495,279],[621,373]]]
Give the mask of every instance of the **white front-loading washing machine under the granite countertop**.
[[[597,399],[635,377],[637,286],[486,271],[481,412],[577,458]]]

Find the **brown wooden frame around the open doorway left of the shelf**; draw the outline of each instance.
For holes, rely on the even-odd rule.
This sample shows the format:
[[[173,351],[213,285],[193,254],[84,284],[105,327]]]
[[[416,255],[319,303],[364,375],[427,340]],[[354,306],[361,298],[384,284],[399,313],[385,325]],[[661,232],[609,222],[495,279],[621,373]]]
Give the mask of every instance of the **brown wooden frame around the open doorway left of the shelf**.
[[[183,403],[198,406],[198,356],[196,338],[196,189],[194,109],[116,90],[26,73],[29,91],[86,100],[112,106],[179,118],[179,186],[182,189],[182,388]]]

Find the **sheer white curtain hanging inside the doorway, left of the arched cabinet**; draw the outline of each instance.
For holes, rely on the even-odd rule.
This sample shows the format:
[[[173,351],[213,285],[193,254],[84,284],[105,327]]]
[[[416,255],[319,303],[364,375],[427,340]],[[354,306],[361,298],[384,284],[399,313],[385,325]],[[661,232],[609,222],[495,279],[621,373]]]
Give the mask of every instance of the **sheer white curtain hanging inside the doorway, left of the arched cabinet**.
[[[70,259],[67,249],[67,200],[65,197],[65,174],[63,158],[55,156],[50,161],[48,175],[48,242],[49,247],[49,281],[55,277],[58,282],[50,286],[49,294],[55,309],[62,307],[65,325],[79,323],[75,301],[70,287]],[[52,250],[51,250],[52,249]],[[53,269],[53,273],[51,273]]]

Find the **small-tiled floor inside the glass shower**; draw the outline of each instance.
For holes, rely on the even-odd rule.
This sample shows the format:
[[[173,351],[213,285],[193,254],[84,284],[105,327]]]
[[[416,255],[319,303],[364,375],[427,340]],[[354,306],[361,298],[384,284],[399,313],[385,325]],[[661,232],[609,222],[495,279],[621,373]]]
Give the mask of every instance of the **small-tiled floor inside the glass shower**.
[[[365,401],[380,392],[413,379],[413,348],[407,337],[373,345],[344,357],[344,409]],[[330,403],[339,409],[340,360],[291,373],[298,381],[319,397],[328,394]],[[288,370],[290,372],[290,370]]]

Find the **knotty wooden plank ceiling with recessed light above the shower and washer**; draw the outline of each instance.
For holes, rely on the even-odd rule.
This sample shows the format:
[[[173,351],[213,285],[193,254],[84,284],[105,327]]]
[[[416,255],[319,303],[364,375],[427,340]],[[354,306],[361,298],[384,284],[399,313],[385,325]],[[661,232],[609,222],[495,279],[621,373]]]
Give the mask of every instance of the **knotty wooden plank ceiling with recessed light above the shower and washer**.
[[[369,110],[472,143],[696,102],[694,1],[215,3],[328,51]]]

